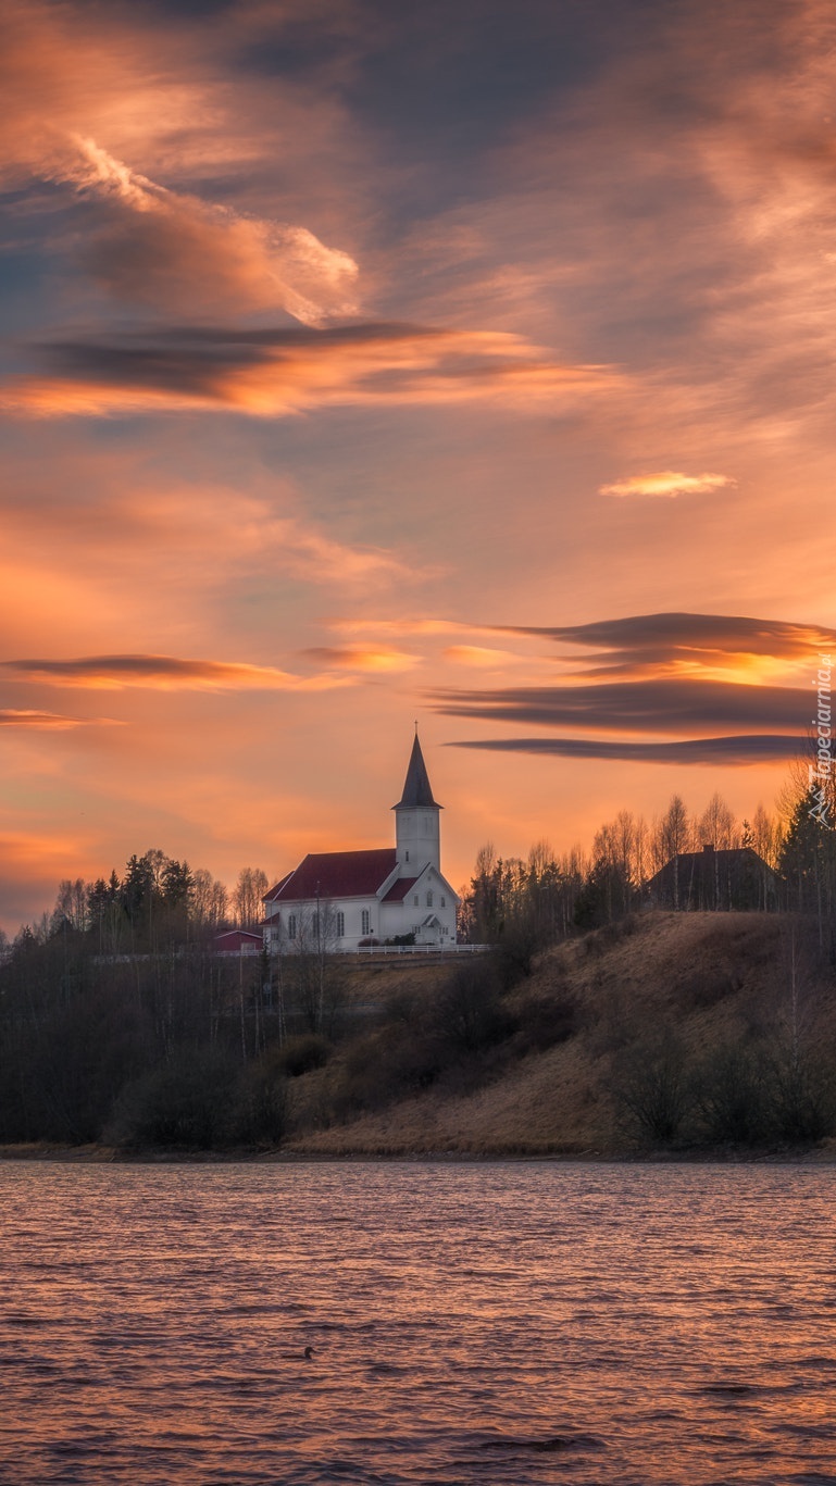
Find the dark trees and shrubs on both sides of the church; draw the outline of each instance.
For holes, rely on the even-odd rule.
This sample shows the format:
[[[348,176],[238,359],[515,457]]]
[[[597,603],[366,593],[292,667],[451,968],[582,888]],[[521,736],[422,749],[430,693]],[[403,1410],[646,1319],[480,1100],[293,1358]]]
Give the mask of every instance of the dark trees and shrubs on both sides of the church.
[[[833,811],[830,783],[826,804]],[[634,921],[649,911],[655,872],[707,841],[757,853],[781,884],[778,914],[799,924],[817,973],[833,976],[836,832],[823,819],[820,785],[800,765],[774,817],[759,808],[738,823],[719,796],[690,816],[674,795],[650,825],[621,811],[595,832],[588,856],[557,854],[539,841],[527,859],[502,859],[487,844],[462,890],[460,938],[490,953],[444,967],[426,1006],[413,1008],[411,1030],[402,1008],[386,1010],[393,1031],[380,1046],[391,1067],[377,1061],[364,1073],[367,1101],[376,1082],[398,1092],[426,1088],[503,1040],[530,1048],[555,1028],[569,1034],[560,999],[549,1006],[538,996],[524,1009],[520,987],[538,957]],[[334,1049],[359,1046],[368,1009],[347,993],[347,957],[327,945],[273,957],[215,953],[221,929],[258,924],[267,887],[261,869],[245,868],[227,893],[209,872],[156,849],[131,856],[108,880],[62,881],[52,912],[3,945],[0,1143],[279,1144],[293,1080]],[[413,1051],[425,1048],[423,1062],[405,1055],[405,1039]]]

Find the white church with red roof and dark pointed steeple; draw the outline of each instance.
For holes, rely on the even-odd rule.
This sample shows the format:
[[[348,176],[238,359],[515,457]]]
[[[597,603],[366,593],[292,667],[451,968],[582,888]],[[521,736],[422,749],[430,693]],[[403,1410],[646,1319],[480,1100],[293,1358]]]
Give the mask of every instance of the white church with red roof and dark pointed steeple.
[[[315,851],[264,898],[270,954],[370,944],[456,944],[459,896],[441,875],[441,805],[432,798],[416,731],[395,846],[373,851]]]

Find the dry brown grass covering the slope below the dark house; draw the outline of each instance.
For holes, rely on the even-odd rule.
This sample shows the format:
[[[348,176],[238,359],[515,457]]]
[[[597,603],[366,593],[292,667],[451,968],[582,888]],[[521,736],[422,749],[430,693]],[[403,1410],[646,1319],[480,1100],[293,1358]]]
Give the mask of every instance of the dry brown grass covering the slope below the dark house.
[[[762,914],[650,912],[548,951],[506,1005],[569,997],[576,1012],[572,1036],[505,1061],[486,1057],[475,1074],[441,1077],[336,1122],[330,1098],[349,1057],[350,1045],[343,1045],[328,1067],[295,1080],[295,1134],[285,1149],[376,1156],[622,1153],[613,1060],[662,1028],[693,1058],[729,1039],[777,1030],[788,1015],[787,933],[786,920]],[[380,1009],[401,991],[432,996],[445,973],[435,963],[361,964],[350,972],[350,996],[355,1005]],[[836,1046],[832,975],[802,966],[799,979],[803,1015]],[[399,1034],[413,1031],[404,1022]]]

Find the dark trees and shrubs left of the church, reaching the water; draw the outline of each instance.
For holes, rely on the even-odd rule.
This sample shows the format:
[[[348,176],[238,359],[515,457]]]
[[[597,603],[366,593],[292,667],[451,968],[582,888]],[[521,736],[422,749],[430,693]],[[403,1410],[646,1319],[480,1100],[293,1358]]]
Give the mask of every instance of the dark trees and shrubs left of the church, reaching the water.
[[[236,887],[162,850],[64,880],[52,912],[0,955],[0,1143],[275,1143],[288,1070],[321,1057],[336,967],[303,953],[218,955],[257,927],[269,887]]]

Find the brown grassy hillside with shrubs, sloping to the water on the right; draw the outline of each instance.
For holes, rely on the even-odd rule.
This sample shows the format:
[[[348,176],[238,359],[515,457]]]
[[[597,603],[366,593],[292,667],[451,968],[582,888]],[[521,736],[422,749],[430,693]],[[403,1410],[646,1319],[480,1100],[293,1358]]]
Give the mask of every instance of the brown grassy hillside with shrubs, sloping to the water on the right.
[[[471,1046],[459,1036],[447,1057],[438,1054],[438,1013],[428,1048],[426,1008],[450,972],[358,966],[350,997],[364,1006],[355,1025],[365,1019],[367,1030],[291,1080],[284,1150],[619,1155],[704,1149],[741,1129],[744,1144],[762,1149],[786,1149],[794,1134],[799,1143],[818,1137],[821,1149],[832,1128],[836,997],[832,972],[815,960],[787,918],[649,912],[546,951],[530,978],[494,997],[493,1031]],[[459,1000],[471,993],[465,987]],[[451,1033],[460,1031],[454,1010],[447,1008]],[[631,1101],[665,1095],[671,1079],[685,1113],[659,1138]],[[739,1106],[744,1095],[760,1101],[751,1138],[751,1119],[738,1129],[739,1109],[723,1123],[723,1100]],[[787,1113],[793,1101],[797,1119]],[[811,1101],[818,1109],[808,1128]]]

